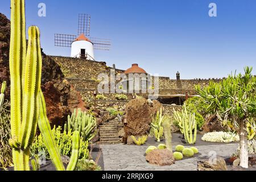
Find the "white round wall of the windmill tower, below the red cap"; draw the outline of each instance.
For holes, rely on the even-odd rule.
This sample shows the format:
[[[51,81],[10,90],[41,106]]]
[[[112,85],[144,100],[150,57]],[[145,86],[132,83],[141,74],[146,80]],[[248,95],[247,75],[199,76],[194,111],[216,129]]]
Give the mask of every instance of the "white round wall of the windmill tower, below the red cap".
[[[71,44],[71,57],[80,57],[81,49],[85,49],[89,60],[94,60],[93,43],[86,40],[77,40]]]

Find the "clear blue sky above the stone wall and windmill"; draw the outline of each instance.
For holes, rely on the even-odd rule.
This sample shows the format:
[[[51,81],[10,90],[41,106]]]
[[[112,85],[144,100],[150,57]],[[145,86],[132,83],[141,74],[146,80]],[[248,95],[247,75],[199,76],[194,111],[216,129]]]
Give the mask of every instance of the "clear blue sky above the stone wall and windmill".
[[[148,73],[175,78],[225,77],[245,65],[256,75],[255,0],[27,0],[27,26],[39,26],[47,55],[69,56],[54,47],[54,34],[77,34],[77,16],[92,16],[91,36],[112,39],[111,51],[96,59],[126,69],[138,63]],[[38,3],[47,16],[38,16]],[[217,4],[210,18],[208,5]],[[10,18],[10,1],[0,12]]]

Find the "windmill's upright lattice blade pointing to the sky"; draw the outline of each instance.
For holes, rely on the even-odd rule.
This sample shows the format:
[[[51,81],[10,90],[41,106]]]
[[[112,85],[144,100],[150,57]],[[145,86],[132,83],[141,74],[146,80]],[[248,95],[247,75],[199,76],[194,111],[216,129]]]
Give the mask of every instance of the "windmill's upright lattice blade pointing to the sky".
[[[79,14],[78,30],[77,35],[84,34],[90,36],[90,15]]]

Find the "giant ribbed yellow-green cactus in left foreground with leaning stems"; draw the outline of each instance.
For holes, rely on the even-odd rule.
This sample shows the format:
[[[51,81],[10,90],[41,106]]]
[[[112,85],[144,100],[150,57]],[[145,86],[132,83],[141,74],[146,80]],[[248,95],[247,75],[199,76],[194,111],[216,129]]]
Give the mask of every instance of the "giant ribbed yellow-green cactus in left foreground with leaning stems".
[[[25,2],[11,0],[11,135],[13,162],[16,171],[29,171],[30,146],[39,124],[44,142],[57,170],[65,170],[56,147],[51,127],[46,116],[46,105],[40,90],[42,55],[39,28],[28,28],[28,49],[26,53]],[[73,133],[73,154],[69,170],[75,169],[79,152],[80,137]],[[77,145],[78,143],[78,145]]]

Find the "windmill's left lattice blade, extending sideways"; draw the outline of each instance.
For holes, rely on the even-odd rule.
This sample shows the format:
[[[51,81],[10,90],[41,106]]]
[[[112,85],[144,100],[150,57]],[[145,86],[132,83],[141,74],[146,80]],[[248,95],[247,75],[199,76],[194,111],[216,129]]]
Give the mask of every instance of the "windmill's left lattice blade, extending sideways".
[[[55,46],[71,47],[72,42],[76,39],[76,35],[55,34]]]

